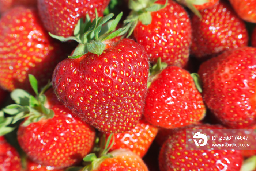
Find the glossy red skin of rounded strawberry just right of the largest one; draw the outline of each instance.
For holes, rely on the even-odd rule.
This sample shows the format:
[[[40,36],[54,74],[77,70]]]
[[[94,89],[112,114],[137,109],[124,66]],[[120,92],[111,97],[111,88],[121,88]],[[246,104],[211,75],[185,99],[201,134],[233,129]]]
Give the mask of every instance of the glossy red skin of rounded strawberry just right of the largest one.
[[[168,66],[148,88],[145,119],[158,127],[177,128],[202,120],[203,98],[188,71]]]

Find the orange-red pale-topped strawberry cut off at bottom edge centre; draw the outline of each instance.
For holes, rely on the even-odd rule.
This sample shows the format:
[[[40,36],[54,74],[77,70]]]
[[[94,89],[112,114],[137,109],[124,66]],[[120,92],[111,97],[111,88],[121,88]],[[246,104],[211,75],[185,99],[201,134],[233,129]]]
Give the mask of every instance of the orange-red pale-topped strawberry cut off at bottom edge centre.
[[[110,152],[114,157],[103,160],[91,171],[148,171],[146,164],[135,153],[119,149]]]

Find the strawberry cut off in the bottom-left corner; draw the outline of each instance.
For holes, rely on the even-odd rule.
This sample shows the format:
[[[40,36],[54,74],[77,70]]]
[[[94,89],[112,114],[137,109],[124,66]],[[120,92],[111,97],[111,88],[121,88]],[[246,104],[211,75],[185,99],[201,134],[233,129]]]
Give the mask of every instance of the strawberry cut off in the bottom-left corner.
[[[20,171],[20,156],[16,149],[0,136],[0,168],[1,171]]]

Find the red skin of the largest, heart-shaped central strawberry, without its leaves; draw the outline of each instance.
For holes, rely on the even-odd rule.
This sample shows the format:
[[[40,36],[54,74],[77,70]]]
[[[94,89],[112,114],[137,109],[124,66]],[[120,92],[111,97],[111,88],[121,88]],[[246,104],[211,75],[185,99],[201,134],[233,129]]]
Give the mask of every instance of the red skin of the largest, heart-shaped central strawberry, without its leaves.
[[[147,54],[133,40],[121,39],[101,55],[65,59],[52,80],[59,100],[78,117],[99,131],[120,133],[142,116],[147,78]]]

